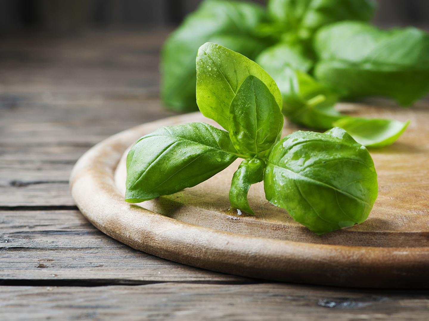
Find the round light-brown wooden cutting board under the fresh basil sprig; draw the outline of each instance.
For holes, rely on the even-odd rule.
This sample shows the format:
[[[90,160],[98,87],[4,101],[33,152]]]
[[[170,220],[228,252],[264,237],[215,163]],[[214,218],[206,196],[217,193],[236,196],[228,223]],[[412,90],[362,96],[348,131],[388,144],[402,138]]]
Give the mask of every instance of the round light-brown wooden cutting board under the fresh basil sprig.
[[[353,116],[411,119],[391,146],[369,149],[378,199],[356,226],[315,235],[251,186],[255,216],[230,209],[228,191],[241,160],[209,180],[139,204],[124,201],[125,158],[141,136],[162,126],[207,122],[200,113],[123,131],[76,163],[70,185],[79,209],[98,229],[133,248],[200,268],[288,282],[356,287],[429,287],[429,106],[404,110],[339,104]],[[283,135],[299,130],[285,122]]]

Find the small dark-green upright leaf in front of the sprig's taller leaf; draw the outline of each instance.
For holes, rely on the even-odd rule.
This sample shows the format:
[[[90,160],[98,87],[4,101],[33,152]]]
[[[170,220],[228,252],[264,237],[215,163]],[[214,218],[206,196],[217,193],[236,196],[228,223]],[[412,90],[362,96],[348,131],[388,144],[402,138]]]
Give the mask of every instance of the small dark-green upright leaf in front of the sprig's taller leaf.
[[[231,101],[229,114],[229,133],[236,150],[248,157],[267,158],[283,128],[283,115],[268,87],[248,76]]]

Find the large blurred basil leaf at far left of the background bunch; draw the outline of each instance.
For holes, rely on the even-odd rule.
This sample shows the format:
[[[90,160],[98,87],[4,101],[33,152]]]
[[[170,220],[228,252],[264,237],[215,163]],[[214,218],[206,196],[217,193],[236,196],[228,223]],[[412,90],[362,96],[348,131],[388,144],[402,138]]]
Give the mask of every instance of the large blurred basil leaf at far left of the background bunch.
[[[205,42],[216,42],[251,59],[266,48],[252,36],[264,20],[255,3],[205,0],[166,40],[161,53],[161,98],[174,110],[196,110],[195,56]]]

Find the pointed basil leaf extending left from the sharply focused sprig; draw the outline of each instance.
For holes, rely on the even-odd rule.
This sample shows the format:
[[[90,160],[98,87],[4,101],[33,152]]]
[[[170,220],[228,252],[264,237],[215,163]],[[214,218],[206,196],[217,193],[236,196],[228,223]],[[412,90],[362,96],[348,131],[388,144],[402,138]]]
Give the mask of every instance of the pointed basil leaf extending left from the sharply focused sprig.
[[[192,187],[229,166],[238,155],[226,131],[205,123],[157,129],[127,156],[127,202],[143,202]],[[242,156],[243,157],[243,156]]]

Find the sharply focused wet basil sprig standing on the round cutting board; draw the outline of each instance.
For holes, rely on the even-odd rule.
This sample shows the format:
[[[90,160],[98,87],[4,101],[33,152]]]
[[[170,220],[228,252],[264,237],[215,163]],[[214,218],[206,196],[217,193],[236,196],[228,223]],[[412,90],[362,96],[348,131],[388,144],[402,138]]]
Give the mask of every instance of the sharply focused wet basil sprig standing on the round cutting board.
[[[233,208],[254,214],[251,184],[299,223],[323,234],[362,223],[377,198],[367,149],[341,128],[297,131],[281,138],[281,94],[245,56],[206,43],[196,57],[196,99],[205,123],[163,127],[139,139],[127,156],[127,202],[176,193],[243,158],[229,193]]]

